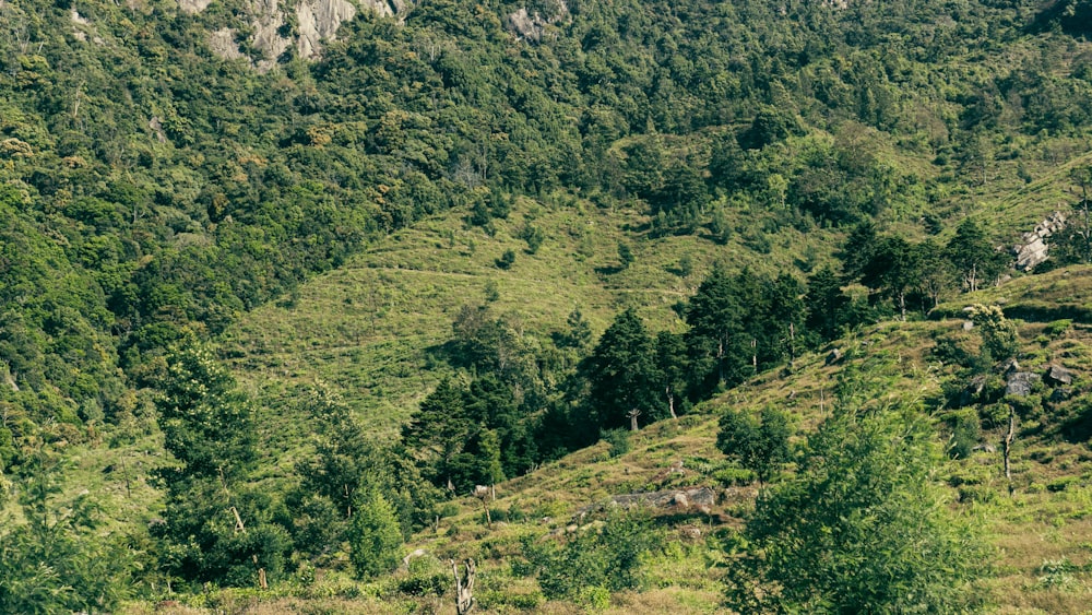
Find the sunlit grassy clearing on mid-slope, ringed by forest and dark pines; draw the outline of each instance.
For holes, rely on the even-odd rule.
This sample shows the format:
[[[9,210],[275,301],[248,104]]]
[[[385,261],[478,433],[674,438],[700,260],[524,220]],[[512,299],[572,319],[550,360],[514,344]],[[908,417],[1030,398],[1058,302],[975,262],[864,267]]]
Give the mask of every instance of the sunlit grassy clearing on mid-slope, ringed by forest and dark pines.
[[[833,250],[832,235],[795,230],[778,235],[769,256],[746,247],[740,234],[723,245],[650,237],[646,216],[571,199],[521,200],[507,220],[492,222],[491,235],[467,227],[464,215],[401,230],[259,308],[222,338],[224,356],[262,399],[276,399],[262,397],[264,390],[283,395],[292,385],[322,380],[376,433],[389,434],[449,372],[435,348],[450,339],[459,308],[487,303],[490,293],[494,314],[512,315],[532,338],[560,329],[575,308],[595,333],[630,306],[653,330],[677,330],[672,306],[693,294],[714,261],[774,272]],[[748,212],[732,216],[747,226]],[[520,239],[529,225],[546,237],[535,253]],[[620,265],[619,243],[632,247],[628,268]],[[505,270],[497,260],[507,250],[517,258]]]

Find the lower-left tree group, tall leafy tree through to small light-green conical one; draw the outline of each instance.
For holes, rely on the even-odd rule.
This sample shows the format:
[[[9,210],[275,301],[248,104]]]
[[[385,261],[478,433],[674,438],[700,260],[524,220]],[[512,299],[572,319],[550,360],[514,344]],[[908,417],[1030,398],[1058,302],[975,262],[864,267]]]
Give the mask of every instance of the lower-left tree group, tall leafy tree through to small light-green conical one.
[[[431,521],[439,492],[329,391],[305,397],[312,441],[293,476],[276,480],[261,468],[275,459],[258,448],[253,404],[209,348],[177,346],[151,378],[178,461],[158,475],[166,509],[150,528],[153,580],[264,587],[346,546],[357,575],[373,577]]]

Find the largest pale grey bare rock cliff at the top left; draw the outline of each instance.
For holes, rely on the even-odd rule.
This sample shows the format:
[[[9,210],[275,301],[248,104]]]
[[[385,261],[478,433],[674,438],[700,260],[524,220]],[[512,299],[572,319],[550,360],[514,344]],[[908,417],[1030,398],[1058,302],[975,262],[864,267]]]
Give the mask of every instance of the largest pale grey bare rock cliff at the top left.
[[[178,8],[194,14],[211,3],[212,0],[178,0]],[[359,8],[348,0],[298,0],[295,8],[277,0],[250,0],[246,10],[251,31],[248,42],[262,52],[262,59],[251,62],[257,70],[268,71],[289,48],[300,58],[316,59],[322,54],[322,42],[333,40],[341,24],[356,16],[357,10],[394,16],[404,14],[407,7],[403,0],[360,0]],[[222,58],[246,58],[237,40],[238,32],[224,27],[210,33],[207,42]]]

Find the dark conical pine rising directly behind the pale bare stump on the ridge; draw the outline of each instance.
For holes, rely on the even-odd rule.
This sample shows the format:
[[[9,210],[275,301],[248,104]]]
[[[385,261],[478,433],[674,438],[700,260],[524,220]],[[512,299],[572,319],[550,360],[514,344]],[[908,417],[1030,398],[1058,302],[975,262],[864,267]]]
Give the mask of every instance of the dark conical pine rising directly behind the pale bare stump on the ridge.
[[[632,428],[637,416],[654,417],[657,405],[663,405],[655,346],[632,308],[615,317],[591,356],[581,362],[580,372],[587,381],[589,427],[594,429],[584,435],[587,441],[594,441],[601,429]]]

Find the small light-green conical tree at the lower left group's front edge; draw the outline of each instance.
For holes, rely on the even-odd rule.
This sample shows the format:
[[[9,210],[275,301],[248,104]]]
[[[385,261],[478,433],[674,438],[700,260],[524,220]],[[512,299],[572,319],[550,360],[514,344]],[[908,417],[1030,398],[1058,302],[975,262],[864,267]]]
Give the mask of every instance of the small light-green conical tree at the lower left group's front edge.
[[[353,569],[361,579],[390,572],[401,560],[402,530],[394,509],[378,490],[363,494],[347,539]]]

